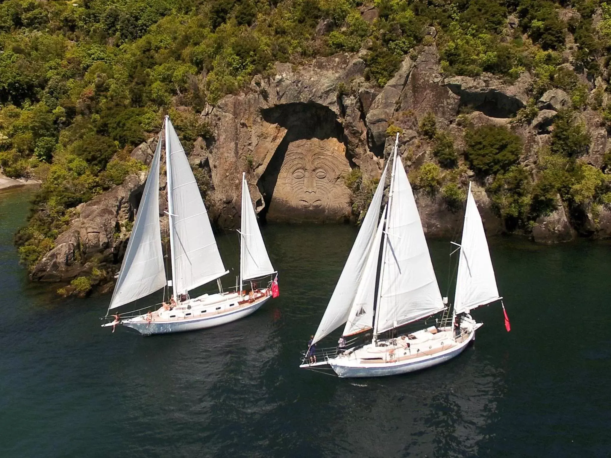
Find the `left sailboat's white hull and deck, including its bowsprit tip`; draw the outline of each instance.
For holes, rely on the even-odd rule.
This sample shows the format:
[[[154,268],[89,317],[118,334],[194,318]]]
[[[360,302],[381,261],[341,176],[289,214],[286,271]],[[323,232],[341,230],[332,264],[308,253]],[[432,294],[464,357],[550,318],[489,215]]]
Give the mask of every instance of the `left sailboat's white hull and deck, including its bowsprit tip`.
[[[258,310],[271,297],[269,289],[263,289],[249,298],[237,293],[204,294],[189,299],[172,310],[163,307],[152,314],[142,314],[120,322],[142,335],[185,332],[220,326],[244,318]],[[189,306],[191,306],[189,308]],[[112,323],[104,326],[112,325]]]

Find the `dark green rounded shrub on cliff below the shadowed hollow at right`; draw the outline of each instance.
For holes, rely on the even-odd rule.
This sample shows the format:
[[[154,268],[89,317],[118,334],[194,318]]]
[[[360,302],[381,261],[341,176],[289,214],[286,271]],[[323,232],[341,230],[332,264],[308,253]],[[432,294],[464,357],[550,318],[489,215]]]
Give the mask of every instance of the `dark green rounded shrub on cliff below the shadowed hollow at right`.
[[[465,139],[465,158],[475,172],[484,176],[507,171],[522,151],[520,137],[500,126],[470,129]]]

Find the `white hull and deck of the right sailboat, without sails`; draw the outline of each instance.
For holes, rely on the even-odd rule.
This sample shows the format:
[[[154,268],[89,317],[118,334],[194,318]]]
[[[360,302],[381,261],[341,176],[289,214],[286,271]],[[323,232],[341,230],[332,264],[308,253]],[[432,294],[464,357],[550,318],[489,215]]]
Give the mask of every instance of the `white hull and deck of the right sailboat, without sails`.
[[[408,374],[445,363],[458,356],[475,340],[475,330],[480,326],[481,323],[474,323],[471,329],[464,330],[456,340],[452,339],[453,330],[450,329],[440,332],[435,340],[420,341],[409,348],[400,345],[370,349],[365,347],[354,352],[348,351],[345,355],[330,359],[328,363],[339,377],[344,378]],[[420,339],[420,336],[417,339]],[[375,357],[371,357],[374,356],[374,349],[379,351]]]

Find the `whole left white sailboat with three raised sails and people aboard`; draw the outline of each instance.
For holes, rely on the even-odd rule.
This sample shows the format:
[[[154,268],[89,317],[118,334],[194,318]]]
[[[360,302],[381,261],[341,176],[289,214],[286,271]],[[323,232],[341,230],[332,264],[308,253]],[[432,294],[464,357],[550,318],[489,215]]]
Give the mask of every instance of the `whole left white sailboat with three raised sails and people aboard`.
[[[114,330],[115,325],[121,324],[144,335],[203,329],[243,318],[260,308],[270,297],[277,296],[277,278],[269,282],[265,280],[265,288],[258,288],[257,283],[251,281],[249,291],[243,289],[244,282],[266,277],[271,280],[276,275],[257,224],[246,174],[242,176],[240,288],[223,292],[221,277],[229,271],[223,265],[185,150],[167,116],[165,140],[172,279],[166,278],[159,227],[160,134],[106,314],[106,318],[113,316],[114,321],[103,324],[103,327],[112,326]],[[214,280],[218,283],[218,293],[189,296],[192,289]],[[171,287],[174,293],[167,303],[150,304],[135,313],[110,315],[111,310],[166,286]]]

